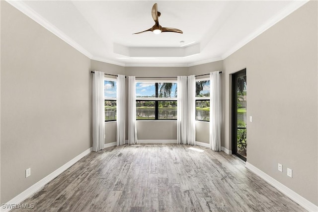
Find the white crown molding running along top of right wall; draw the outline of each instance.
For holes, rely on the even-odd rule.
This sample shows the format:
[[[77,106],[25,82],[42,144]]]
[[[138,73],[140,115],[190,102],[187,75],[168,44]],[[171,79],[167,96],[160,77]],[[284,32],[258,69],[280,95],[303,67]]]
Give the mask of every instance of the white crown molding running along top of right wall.
[[[294,1],[292,4],[287,6],[283,11],[281,11],[279,14],[275,15],[273,18],[271,18],[269,21],[267,21],[265,24],[263,24],[261,27],[259,27],[257,30],[246,36],[241,42],[239,42],[237,45],[235,45],[232,49],[227,51],[225,54],[222,55],[222,60],[226,59],[236,51],[238,51],[240,48],[242,48],[244,45],[246,45],[248,42],[252,41],[254,38],[256,38],[258,35],[265,32],[267,29],[287,17],[289,14],[294,12],[296,9],[307,3],[309,0],[297,0]]]

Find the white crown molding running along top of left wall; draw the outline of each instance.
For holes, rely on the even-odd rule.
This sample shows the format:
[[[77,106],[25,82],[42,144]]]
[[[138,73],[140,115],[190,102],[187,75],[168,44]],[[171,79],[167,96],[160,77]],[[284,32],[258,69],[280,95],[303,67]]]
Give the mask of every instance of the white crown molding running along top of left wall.
[[[82,46],[80,46],[77,42],[75,42],[73,39],[71,39],[69,36],[64,34],[61,30],[56,28],[53,24],[48,22],[45,18],[43,18],[41,15],[39,15],[37,12],[35,12],[33,9],[31,9],[29,6],[27,6],[22,1],[15,1],[15,0],[6,0],[9,4],[14,6],[16,9],[20,10],[22,13],[24,13],[26,16],[43,26],[45,29],[52,32],[54,35],[62,39],[64,42],[78,50],[80,53],[85,55],[87,58],[92,59],[93,55],[90,54],[86,49],[84,49]]]

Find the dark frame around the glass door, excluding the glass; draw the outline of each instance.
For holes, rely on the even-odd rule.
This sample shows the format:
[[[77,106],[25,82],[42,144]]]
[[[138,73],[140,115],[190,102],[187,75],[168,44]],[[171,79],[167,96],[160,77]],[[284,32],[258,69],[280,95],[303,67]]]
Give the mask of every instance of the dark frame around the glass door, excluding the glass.
[[[238,153],[238,96],[237,87],[240,76],[246,75],[246,68],[232,74],[232,153],[237,155],[242,160],[246,161],[246,158]]]

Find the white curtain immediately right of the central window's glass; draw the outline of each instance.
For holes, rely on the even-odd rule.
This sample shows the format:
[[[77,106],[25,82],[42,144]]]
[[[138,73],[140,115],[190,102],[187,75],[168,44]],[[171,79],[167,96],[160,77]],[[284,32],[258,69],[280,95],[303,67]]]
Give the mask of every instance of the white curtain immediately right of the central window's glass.
[[[177,79],[177,142],[187,140],[187,76]]]

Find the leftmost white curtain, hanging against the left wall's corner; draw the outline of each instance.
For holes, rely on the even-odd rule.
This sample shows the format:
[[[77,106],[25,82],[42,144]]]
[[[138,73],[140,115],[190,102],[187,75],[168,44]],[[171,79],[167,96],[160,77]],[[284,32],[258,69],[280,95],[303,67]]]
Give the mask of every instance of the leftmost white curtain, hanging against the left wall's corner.
[[[93,151],[104,149],[105,136],[104,72],[93,74]]]

